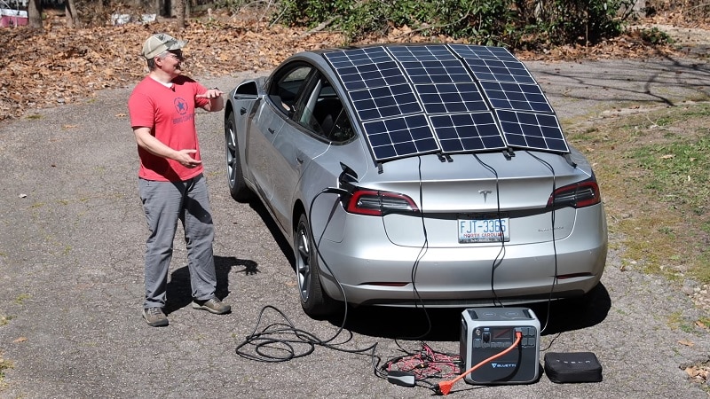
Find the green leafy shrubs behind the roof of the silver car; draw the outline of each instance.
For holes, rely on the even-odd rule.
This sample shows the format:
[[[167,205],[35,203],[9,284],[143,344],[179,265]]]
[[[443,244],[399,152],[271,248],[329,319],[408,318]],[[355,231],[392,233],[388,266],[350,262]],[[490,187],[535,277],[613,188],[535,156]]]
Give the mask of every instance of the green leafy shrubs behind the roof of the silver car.
[[[512,48],[597,43],[619,35],[634,0],[283,0],[274,21],[301,27],[329,22],[349,42],[411,27],[469,43]]]

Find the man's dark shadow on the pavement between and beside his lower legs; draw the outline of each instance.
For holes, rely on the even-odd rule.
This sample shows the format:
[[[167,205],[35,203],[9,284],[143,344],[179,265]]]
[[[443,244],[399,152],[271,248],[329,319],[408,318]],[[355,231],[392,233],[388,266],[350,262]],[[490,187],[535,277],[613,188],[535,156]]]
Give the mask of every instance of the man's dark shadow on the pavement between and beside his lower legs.
[[[229,272],[234,267],[244,267],[247,274],[258,272],[256,262],[243,259],[237,259],[233,256],[215,256],[215,271],[217,271],[217,291],[215,294],[220,299],[225,299],[229,295]],[[192,288],[190,286],[190,270],[187,266],[173,271],[170,274],[170,279],[167,286],[167,301],[163,311],[166,315],[174,312],[177,309],[185,308],[193,301]]]

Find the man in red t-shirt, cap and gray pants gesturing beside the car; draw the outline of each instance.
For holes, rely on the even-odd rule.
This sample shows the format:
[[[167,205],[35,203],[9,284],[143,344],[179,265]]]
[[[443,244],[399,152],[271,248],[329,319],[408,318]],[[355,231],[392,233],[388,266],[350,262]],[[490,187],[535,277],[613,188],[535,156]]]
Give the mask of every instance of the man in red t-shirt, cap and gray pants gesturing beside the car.
[[[217,112],[225,107],[224,93],[183,76],[185,44],[166,34],[150,36],[143,45],[150,72],[128,100],[140,158],[138,192],[150,231],[143,317],[155,327],[169,324],[163,308],[178,220],[185,231],[193,308],[219,315],[231,310],[215,295],[215,229],[194,124],[196,108]]]

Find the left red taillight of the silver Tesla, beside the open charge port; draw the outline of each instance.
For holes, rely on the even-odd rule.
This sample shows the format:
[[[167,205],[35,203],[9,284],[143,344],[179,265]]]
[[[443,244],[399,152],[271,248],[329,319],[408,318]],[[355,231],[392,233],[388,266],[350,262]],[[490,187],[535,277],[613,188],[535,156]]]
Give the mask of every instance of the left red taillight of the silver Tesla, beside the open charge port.
[[[397,192],[357,189],[352,192],[345,210],[351,214],[382,216],[392,213],[419,212],[414,201]]]

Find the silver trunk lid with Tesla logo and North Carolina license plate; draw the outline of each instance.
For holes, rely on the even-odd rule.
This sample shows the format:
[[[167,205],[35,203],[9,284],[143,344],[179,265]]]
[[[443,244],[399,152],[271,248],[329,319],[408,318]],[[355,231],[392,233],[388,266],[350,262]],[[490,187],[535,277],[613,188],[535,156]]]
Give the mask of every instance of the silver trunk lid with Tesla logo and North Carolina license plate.
[[[435,155],[403,161],[378,188],[409,196],[418,213],[383,215],[384,228],[400,246],[500,246],[564,239],[576,209],[552,210],[552,192],[588,178],[558,154],[518,152]],[[394,170],[397,170],[396,172]],[[409,177],[406,177],[406,174]],[[382,176],[388,175],[384,164]],[[421,176],[421,178],[419,177]]]

